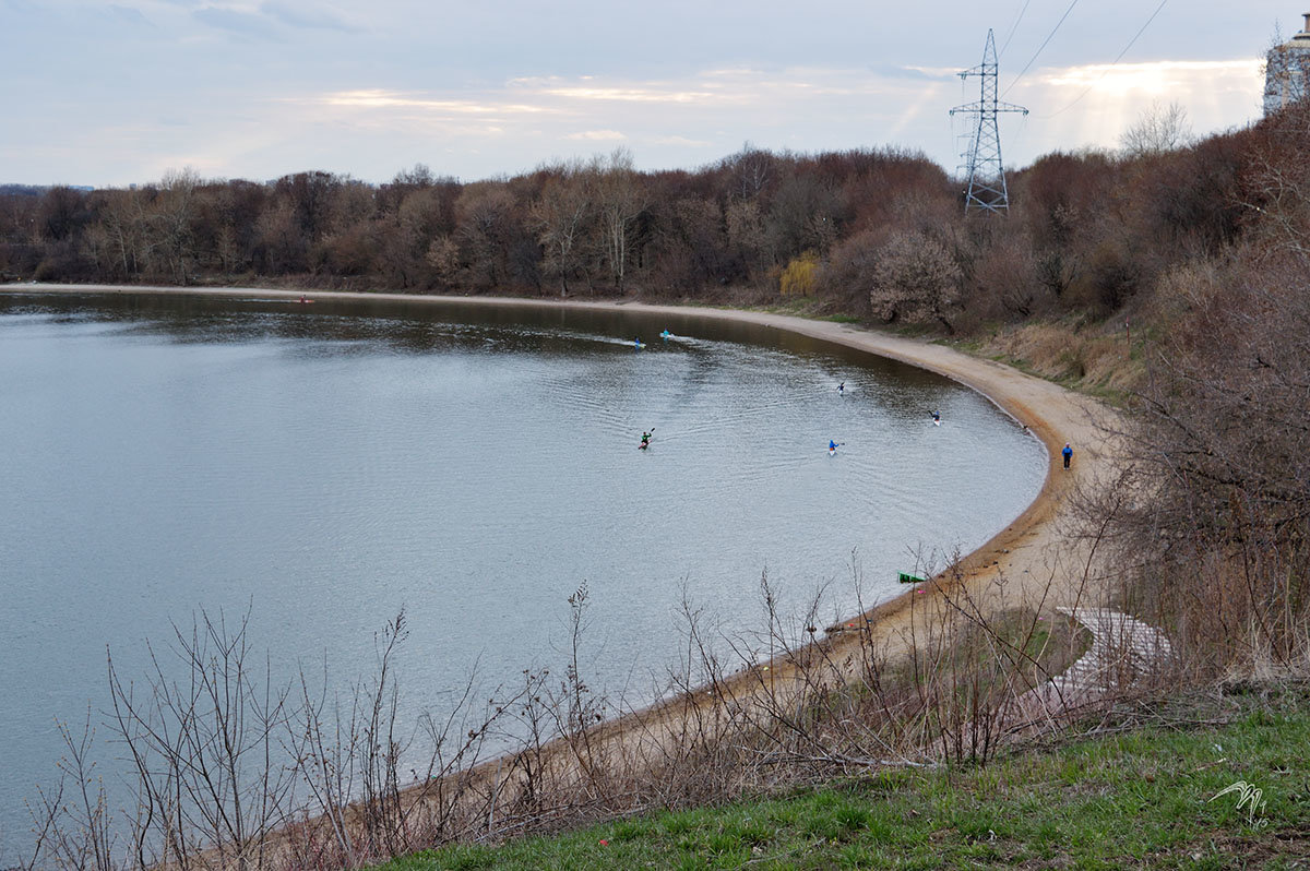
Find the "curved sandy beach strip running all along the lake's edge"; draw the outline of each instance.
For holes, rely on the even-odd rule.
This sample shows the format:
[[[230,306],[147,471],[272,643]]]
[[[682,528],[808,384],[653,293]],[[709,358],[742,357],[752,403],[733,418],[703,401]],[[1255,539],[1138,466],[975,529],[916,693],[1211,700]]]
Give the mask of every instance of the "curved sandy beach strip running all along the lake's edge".
[[[118,286],[54,286],[8,284],[0,293],[153,293],[153,295],[210,295],[242,297],[257,293],[262,297],[295,300],[299,291],[270,291],[263,288],[166,288]],[[508,297],[449,297],[414,296],[403,293],[343,293],[314,292],[316,299],[341,300],[396,300],[406,303],[430,301],[470,303],[500,306],[572,306],[579,309],[641,310],[651,314],[696,316],[706,320],[736,320],[787,330],[810,338],[832,342],[910,365],[929,369],[958,381],[990,399],[1002,411],[1026,426],[1045,445],[1047,475],[1034,502],[1001,532],[968,555],[947,566],[929,583],[880,602],[863,614],[853,616],[837,626],[828,627],[823,638],[803,644],[804,651],[827,650],[829,661],[859,663],[858,654],[870,654],[875,647],[884,656],[904,656],[916,650],[916,631],[922,631],[925,616],[946,610],[947,596],[942,593],[964,591],[975,601],[986,600],[985,608],[1026,606],[1045,614],[1057,608],[1077,609],[1099,605],[1098,591],[1089,587],[1095,546],[1066,537],[1066,521],[1076,520],[1072,502],[1066,498],[1076,487],[1094,487],[1110,481],[1117,464],[1117,445],[1106,440],[1104,424],[1115,413],[1107,406],[1066,390],[1049,381],[1024,375],[1017,369],[971,358],[952,348],[920,339],[871,333],[829,321],[808,321],[793,316],[727,309],[694,309],[679,305],[647,305],[624,301],[559,301]],[[1074,445],[1074,462],[1062,469],[1060,448],[1065,441]],[[924,593],[924,595],[916,595]],[[845,631],[852,629],[855,631]],[[791,651],[799,654],[800,651]],[[555,773],[572,778],[590,775],[600,760],[622,766],[629,774],[650,771],[668,758],[669,748],[685,747],[696,741],[701,719],[706,714],[718,719],[730,710],[743,706],[777,703],[777,693],[789,680],[800,676],[802,668],[790,654],[753,664],[739,663],[743,668],[722,680],[713,680],[714,692],[705,686],[686,693],[668,693],[642,709],[631,709],[620,699],[616,715],[586,728],[586,758],[574,745],[576,735],[559,736],[536,748],[534,764],[538,770],[549,765]],[[688,675],[690,678],[690,675]],[[803,677],[802,677],[803,680]],[[709,685],[709,684],[707,684]],[[730,714],[730,716],[732,716]],[[470,768],[452,771],[440,778],[457,787],[460,795],[491,795],[508,802],[515,790],[521,790],[515,778],[520,761],[532,754],[520,748],[494,757],[474,761]],[[583,778],[584,779],[584,778]],[[465,792],[465,790],[468,792]],[[419,781],[402,787],[406,802],[431,800],[428,783]],[[440,799],[438,799],[440,800]],[[279,829],[271,833],[282,841],[291,833]]]

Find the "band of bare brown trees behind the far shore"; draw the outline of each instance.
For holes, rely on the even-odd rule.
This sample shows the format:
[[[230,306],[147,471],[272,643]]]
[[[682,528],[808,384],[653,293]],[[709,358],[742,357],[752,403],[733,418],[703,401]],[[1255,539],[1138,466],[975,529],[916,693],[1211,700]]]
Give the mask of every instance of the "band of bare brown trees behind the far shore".
[[[616,151],[458,182],[170,172],[132,189],[0,191],[0,276],[688,301],[810,297],[971,331],[1108,313],[1180,258],[1230,244],[1262,128],[1165,153],[1053,153],[1010,178],[1009,220],[967,219],[920,153],[753,147],[696,170]]]

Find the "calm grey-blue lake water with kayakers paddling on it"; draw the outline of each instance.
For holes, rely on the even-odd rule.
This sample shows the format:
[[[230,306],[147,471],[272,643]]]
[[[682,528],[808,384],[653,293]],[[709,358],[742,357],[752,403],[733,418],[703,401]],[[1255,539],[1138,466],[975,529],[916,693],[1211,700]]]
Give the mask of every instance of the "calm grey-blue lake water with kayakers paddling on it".
[[[275,671],[326,656],[345,688],[405,608],[413,724],[474,664],[490,686],[559,663],[586,582],[590,682],[642,701],[684,589],[732,637],[765,571],[787,613],[824,589],[823,618],[852,616],[853,562],[866,606],[896,595],[1045,473],[948,380],[693,313],[0,293],[0,405],[10,845],[55,718],[101,719],[106,647],[143,675],[199,609],[249,609]]]

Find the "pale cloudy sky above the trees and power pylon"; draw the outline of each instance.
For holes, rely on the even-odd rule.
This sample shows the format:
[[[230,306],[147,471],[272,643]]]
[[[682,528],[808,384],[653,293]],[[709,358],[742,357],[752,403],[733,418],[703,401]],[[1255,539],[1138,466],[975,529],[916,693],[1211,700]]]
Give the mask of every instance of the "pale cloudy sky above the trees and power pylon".
[[[955,73],[981,62],[989,28],[1002,100],[1031,110],[1001,117],[1020,166],[1114,147],[1155,103],[1180,103],[1197,134],[1258,118],[1260,59],[1302,7],[0,0],[0,182],[182,168],[381,182],[419,162],[472,181],[616,147],[642,169],[696,168],[747,141],[895,145],[954,170],[967,124],[948,110],[979,98]]]

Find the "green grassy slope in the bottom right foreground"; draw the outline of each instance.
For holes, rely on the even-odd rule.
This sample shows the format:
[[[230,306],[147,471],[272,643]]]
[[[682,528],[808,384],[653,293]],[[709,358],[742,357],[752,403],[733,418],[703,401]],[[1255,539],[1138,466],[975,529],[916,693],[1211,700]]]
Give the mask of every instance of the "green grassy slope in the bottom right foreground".
[[[1310,867],[1310,689],[1172,707],[986,768],[882,771],[384,867]],[[1214,798],[1238,781],[1263,790],[1254,812]]]

